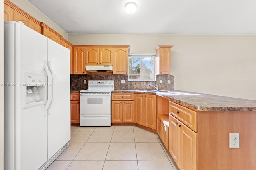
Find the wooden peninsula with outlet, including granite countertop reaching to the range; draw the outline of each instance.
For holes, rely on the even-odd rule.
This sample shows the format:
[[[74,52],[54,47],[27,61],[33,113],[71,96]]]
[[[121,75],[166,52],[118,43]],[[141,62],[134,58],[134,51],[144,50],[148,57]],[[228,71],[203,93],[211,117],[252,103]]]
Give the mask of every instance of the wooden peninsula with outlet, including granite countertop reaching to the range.
[[[161,113],[169,119],[166,148],[180,169],[256,169],[255,100],[177,90],[112,93],[156,94],[157,112],[168,110]],[[239,133],[239,148],[229,148],[229,133]]]

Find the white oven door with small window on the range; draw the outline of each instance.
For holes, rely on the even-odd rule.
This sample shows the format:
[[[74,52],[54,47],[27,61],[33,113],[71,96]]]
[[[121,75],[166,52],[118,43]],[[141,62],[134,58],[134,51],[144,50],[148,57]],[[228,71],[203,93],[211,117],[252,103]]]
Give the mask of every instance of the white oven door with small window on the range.
[[[80,93],[80,115],[110,115],[111,92]]]

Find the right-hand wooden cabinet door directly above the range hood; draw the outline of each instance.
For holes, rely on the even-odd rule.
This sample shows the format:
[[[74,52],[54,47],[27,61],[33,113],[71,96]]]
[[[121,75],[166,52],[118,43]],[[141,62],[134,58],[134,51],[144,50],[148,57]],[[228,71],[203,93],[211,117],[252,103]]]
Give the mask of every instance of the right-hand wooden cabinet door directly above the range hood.
[[[100,65],[113,65],[113,48],[100,47],[99,49]]]

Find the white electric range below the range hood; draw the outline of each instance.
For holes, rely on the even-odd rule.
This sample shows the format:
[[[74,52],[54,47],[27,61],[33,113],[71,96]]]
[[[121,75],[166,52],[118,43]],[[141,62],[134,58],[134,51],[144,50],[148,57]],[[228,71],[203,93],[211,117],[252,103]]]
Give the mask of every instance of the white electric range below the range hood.
[[[80,90],[80,126],[111,126],[113,80],[89,80]]]

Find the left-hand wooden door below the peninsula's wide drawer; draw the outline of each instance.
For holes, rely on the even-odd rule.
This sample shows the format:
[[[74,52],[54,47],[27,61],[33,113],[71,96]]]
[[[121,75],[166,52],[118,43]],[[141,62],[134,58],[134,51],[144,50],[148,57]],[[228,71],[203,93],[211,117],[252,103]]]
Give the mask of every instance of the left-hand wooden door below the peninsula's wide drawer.
[[[178,140],[178,120],[169,114],[169,152],[177,165],[179,164]]]

